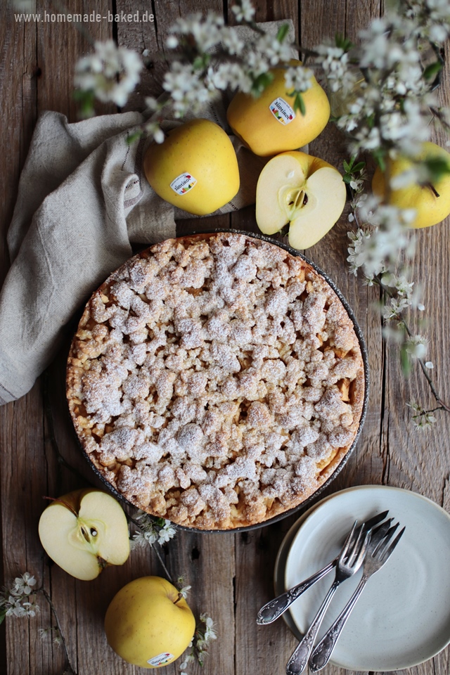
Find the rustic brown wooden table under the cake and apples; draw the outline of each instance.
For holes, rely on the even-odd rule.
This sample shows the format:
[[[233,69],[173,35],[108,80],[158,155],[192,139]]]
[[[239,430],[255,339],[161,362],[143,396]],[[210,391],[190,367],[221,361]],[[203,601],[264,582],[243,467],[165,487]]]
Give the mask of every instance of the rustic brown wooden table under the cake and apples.
[[[56,2],[37,0],[36,11],[55,13]],[[314,46],[336,32],[356,39],[359,29],[383,11],[382,0],[257,0],[257,20],[292,18],[297,37],[304,46]],[[89,0],[69,0],[68,11],[91,13]],[[173,20],[191,11],[214,10],[231,18],[231,3],[222,0],[98,0],[101,15],[151,11],[154,23],[133,21],[87,23],[95,39],[114,37],[119,44],[142,52],[164,53],[167,29]],[[6,231],[11,221],[20,170],[23,167],[34,124],[43,110],[56,110],[77,119],[72,99],[72,73],[79,56],[89,52],[89,41],[72,25],[15,20],[12,0],[0,9],[0,100],[3,133],[0,138],[1,280],[8,270]],[[449,59],[447,58],[447,63]],[[161,91],[164,62],[147,70],[127,109],[141,109],[144,95]],[[441,87],[442,101],[449,104],[449,79]],[[445,101],[446,99],[446,101]],[[98,113],[111,113],[108,106]],[[439,139],[437,139],[439,141]],[[442,141],[442,139],[441,139]],[[342,136],[329,124],[319,139],[311,143],[311,154],[342,167],[346,156]],[[181,233],[184,227],[180,226]],[[232,226],[255,231],[254,209],[231,217],[207,218],[202,229]],[[418,247],[412,277],[424,284],[424,304],[428,317],[430,358],[444,397],[450,398],[450,223],[418,233]],[[449,416],[441,415],[433,432],[420,435],[411,425],[405,401],[419,397],[425,404],[434,401],[425,380],[413,371],[402,378],[399,355],[382,341],[378,311],[373,302],[377,292],[349,276],[345,263],[347,222],[343,216],[324,240],[308,251],[309,257],[338,284],[354,308],[368,345],[371,368],[371,396],[364,430],[356,451],[328,488],[328,493],[361,484],[385,484],[411,489],[450,510],[450,433]],[[70,263],[70,251],[68,251]],[[64,407],[63,368],[65,349],[49,371],[47,386],[41,378],[25,397],[0,409],[1,523],[2,555],[6,581],[30,571],[44,584],[57,609],[68,641],[72,663],[79,675],[94,673],[131,674],[138,670],[113,653],[103,634],[103,616],[115,592],[125,583],[145,574],[163,574],[150,551],[134,551],[123,567],[112,567],[91,582],[69,577],[56,565],[49,565],[37,535],[37,522],[44,507],[43,495],[63,494],[81,487],[64,465],[58,463],[53,437],[65,459],[84,475],[94,475],[80,456]],[[53,420],[52,425],[49,420]],[[283,675],[285,662],[295,646],[295,638],[283,621],[259,628],[257,609],[273,594],[272,572],[278,546],[293,524],[293,516],[276,525],[242,534],[187,534],[179,532],[162,549],[165,564],[174,576],[184,574],[191,584],[190,603],[195,612],[214,618],[219,639],[212,643],[203,672],[205,675]],[[1,627],[3,641],[0,671],[8,675],[60,675],[64,654],[50,640],[41,639],[39,629],[53,622],[43,598],[41,612],[33,619],[7,619]],[[450,671],[450,650],[409,671],[409,675],[444,675]],[[190,665],[193,675],[198,665]],[[179,662],[165,669],[179,672]],[[328,666],[326,675],[345,671]]]

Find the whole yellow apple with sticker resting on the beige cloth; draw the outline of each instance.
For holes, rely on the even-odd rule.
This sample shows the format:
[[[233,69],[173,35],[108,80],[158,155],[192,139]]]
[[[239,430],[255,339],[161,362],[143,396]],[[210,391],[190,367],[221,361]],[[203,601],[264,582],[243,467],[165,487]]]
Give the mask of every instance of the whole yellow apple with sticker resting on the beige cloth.
[[[191,120],[152,143],[143,168],[155,193],[169,204],[205,216],[239,189],[236,153],[229,137],[210,120]]]

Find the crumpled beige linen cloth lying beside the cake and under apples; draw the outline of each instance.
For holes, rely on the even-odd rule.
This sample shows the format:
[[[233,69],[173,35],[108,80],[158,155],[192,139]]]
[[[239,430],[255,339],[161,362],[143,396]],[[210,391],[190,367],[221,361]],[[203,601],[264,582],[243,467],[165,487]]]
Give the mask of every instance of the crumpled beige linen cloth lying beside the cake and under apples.
[[[279,25],[263,26],[276,34]],[[198,116],[226,129],[222,101]],[[59,113],[39,117],[8,231],[11,269],[0,292],[0,404],[31,389],[53,359],[64,326],[132,255],[132,243],[151,245],[174,237],[175,219],[191,217],[150,188],[142,168],[149,139],[127,141],[145,120],[141,113],[75,124]],[[179,123],[167,120],[163,129]],[[219,210],[224,213],[255,203],[266,161],[233,136],[231,141],[241,185]]]

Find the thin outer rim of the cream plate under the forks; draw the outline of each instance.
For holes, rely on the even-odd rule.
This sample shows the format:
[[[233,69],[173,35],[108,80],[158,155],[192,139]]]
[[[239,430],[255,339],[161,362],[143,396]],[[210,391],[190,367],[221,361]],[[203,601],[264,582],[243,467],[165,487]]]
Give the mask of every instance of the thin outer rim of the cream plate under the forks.
[[[355,492],[356,491],[358,491],[358,492],[360,492],[360,491],[372,491],[374,489],[379,489],[379,490],[383,490],[383,491],[391,491],[391,492],[397,491],[399,493],[407,493],[407,494],[413,495],[413,497],[417,498],[418,501],[420,501],[420,500],[425,501],[430,506],[435,508],[439,513],[444,515],[446,517],[446,520],[449,521],[449,527],[450,527],[450,514],[444,508],[442,508],[442,506],[439,506],[439,504],[437,504],[435,501],[432,501],[432,499],[429,499],[428,497],[425,497],[424,495],[422,495],[418,492],[415,492],[415,491],[412,491],[412,490],[409,490],[409,489],[405,489],[405,488],[401,488],[401,487],[394,487],[394,486],[390,486],[390,485],[380,485],[380,484],[356,485],[356,486],[352,486],[352,487],[347,487],[347,488],[342,489],[338,492],[335,492],[333,494],[325,496],[323,499],[318,501],[315,505],[311,506],[311,508],[309,508],[307,511],[305,511],[305,513],[303,513],[300,516],[300,518],[290,527],[288,532],[285,534],[285,537],[284,537],[284,539],[281,543],[280,549],[278,550],[278,555],[276,557],[276,567],[274,568],[274,584],[275,584],[276,588],[277,588],[277,586],[278,586],[278,589],[280,587],[279,586],[280,577],[279,576],[276,577],[276,574],[280,575],[281,571],[282,571],[280,569],[280,565],[281,565],[281,555],[283,554],[283,551],[282,551],[283,546],[285,547],[285,545],[288,542],[288,540],[290,539],[290,537],[292,537],[292,541],[290,541],[289,550],[288,550],[288,553],[287,553],[287,556],[286,556],[286,565],[285,565],[285,570],[284,570],[285,574],[284,574],[283,587],[285,589],[287,589],[288,586],[285,583],[285,577],[286,577],[288,557],[289,557],[290,551],[293,548],[293,545],[294,545],[294,543],[297,539],[297,536],[300,536],[300,531],[301,531],[302,527],[306,524],[307,520],[309,520],[310,516],[313,515],[313,514],[316,515],[316,511],[321,510],[322,507],[325,507],[325,506],[328,507],[327,503],[329,501],[332,501],[335,497],[338,497],[340,495],[347,494],[347,493],[353,492],[353,491],[355,491]],[[297,532],[295,532],[295,534],[294,534],[295,529],[297,530]],[[277,567],[277,565],[278,565],[278,567]],[[297,624],[295,622],[295,617],[290,612],[290,610],[285,612],[285,615],[287,615],[287,616],[283,615],[283,617],[285,619],[286,624],[289,626],[289,628],[293,632],[293,634],[298,638],[299,636],[302,635],[302,633],[300,631],[300,628],[297,626]],[[449,644],[450,644],[450,630],[449,630],[449,634],[446,637],[446,641],[443,641],[443,643],[441,645],[439,645],[439,648],[437,649],[437,651],[430,650],[430,652],[426,656],[424,656],[423,658],[420,658],[419,660],[416,660],[414,662],[411,661],[411,662],[408,662],[406,664],[401,664],[401,666],[398,666],[398,667],[395,667],[395,668],[392,668],[392,667],[385,668],[385,667],[380,667],[380,664],[373,664],[373,667],[370,667],[368,670],[369,671],[377,671],[377,672],[392,672],[392,671],[397,671],[397,670],[413,668],[413,667],[416,667],[416,666],[424,663],[425,661],[428,661],[428,660],[432,659],[433,657],[437,656],[442,650],[444,650],[446,647],[448,647]],[[352,669],[359,670],[359,668],[352,668],[349,664],[340,663],[337,660],[333,660],[333,658],[330,659],[330,664],[333,664],[336,667],[345,668],[345,669],[349,669],[349,670],[352,670]]]

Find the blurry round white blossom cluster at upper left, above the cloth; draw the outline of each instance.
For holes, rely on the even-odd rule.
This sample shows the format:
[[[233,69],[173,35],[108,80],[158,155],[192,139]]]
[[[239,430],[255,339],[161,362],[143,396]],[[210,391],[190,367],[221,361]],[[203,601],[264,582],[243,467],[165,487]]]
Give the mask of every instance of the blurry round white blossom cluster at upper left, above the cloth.
[[[95,43],[95,52],[75,66],[75,86],[92,91],[99,101],[125,105],[140,79],[142,61],[135,51],[117,47],[113,40]]]

